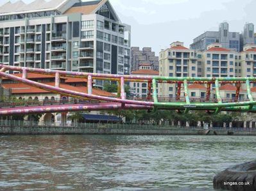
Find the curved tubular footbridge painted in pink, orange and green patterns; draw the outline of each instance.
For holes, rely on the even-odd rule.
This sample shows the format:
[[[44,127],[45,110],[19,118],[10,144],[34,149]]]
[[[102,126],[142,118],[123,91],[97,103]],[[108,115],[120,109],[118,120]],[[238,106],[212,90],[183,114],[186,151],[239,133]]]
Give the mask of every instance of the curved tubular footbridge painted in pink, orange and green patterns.
[[[17,77],[6,71],[17,71],[22,73],[22,77]],[[55,75],[55,86],[49,86],[40,82],[27,79],[27,73],[40,73],[46,75]],[[89,100],[98,100],[98,103],[83,103],[69,105],[38,105],[31,107],[12,107],[0,108],[0,115],[7,114],[29,114],[44,112],[67,112],[67,111],[83,111],[83,110],[113,110],[113,109],[167,109],[177,110],[180,113],[187,113],[190,110],[204,110],[212,114],[218,114],[220,111],[239,111],[239,112],[256,112],[256,100],[253,100],[251,93],[251,84],[256,83],[255,77],[226,77],[226,78],[206,78],[206,77],[147,77],[147,76],[131,76],[131,75],[112,75],[103,73],[83,73],[83,72],[67,72],[57,70],[47,70],[38,68],[24,68],[17,66],[0,65],[0,77],[22,82],[36,88],[45,89],[53,93],[61,95],[82,98]],[[69,89],[60,88],[60,77],[87,78],[88,93],[71,91]],[[92,94],[92,82],[95,79],[114,81],[118,84],[117,97],[99,96]],[[126,98],[124,93],[124,85],[126,82],[146,82],[148,83],[148,98],[144,100]],[[170,98],[162,99],[157,95],[157,84],[168,83],[177,84],[177,94],[175,100]],[[201,100],[195,100],[189,96],[189,84],[207,84],[206,97]],[[210,98],[211,85],[215,84],[216,98]],[[235,99],[226,102],[225,98],[221,98],[219,86],[221,84],[236,84],[237,91]],[[239,91],[241,84],[246,84],[248,99],[239,100]],[[184,97],[181,97],[181,87],[183,85]],[[153,94],[151,95],[151,90]]]

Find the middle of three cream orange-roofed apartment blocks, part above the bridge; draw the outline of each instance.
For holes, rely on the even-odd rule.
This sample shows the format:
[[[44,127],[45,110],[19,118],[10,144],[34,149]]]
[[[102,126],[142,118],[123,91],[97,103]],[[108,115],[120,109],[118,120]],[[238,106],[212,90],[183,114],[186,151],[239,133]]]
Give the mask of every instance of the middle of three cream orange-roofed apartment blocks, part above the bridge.
[[[234,50],[225,49],[221,43],[212,43],[203,51],[203,76],[235,77]]]

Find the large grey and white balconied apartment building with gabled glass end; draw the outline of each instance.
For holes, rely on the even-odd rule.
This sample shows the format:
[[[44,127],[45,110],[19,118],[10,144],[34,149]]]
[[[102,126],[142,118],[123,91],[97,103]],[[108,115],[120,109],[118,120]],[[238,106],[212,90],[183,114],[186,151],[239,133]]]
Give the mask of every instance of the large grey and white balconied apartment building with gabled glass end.
[[[0,62],[73,72],[130,73],[130,26],[108,0],[36,0],[0,7]],[[103,86],[96,80],[96,86]]]

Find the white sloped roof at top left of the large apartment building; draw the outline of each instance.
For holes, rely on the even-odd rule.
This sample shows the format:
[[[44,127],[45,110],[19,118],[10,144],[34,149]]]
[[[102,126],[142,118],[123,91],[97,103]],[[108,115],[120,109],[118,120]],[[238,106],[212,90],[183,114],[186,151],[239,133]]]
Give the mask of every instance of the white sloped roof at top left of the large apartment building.
[[[30,13],[35,11],[58,10],[62,5],[70,0],[51,0],[49,2],[44,0],[35,0],[29,4],[23,1],[11,3],[8,1],[0,7],[0,15],[11,15],[15,13]],[[76,1],[74,1],[76,3]]]

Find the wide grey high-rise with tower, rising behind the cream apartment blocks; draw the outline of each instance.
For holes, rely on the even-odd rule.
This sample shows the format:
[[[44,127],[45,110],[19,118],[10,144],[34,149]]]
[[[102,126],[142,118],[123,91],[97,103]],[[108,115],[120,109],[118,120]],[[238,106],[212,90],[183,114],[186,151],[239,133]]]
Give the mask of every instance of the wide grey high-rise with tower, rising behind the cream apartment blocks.
[[[225,49],[240,50],[240,36],[237,32],[230,32],[228,22],[219,24],[219,31],[206,31],[200,36],[194,38],[191,49],[207,50],[211,43],[221,43]]]

